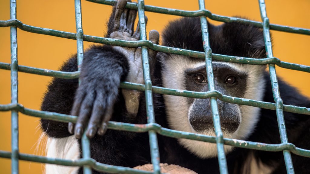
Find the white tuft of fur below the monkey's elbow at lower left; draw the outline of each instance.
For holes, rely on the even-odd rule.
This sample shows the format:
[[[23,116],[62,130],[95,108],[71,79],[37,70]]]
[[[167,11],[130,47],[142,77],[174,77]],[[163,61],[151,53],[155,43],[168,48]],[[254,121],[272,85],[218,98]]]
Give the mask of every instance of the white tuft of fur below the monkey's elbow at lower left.
[[[65,138],[47,138],[47,157],[77,160],[80,158],[80,147],[74,136]],[[76,174],[79,167],[46,164],[46,174]]]

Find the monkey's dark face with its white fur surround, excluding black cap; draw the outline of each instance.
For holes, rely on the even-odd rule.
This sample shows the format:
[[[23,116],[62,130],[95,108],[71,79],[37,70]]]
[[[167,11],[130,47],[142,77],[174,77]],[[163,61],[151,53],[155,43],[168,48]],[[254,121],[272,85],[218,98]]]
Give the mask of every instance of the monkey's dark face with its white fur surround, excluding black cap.
[[[263,66],[213,62],[215,90],[224,95],[262,100]],[[164,59],[162,80],[166,88],[209,91],[204,60],[173,55]],[[215,136],[210,99],[165,95],[167,120],[171,128]],[[219,117],[225,138],[245,140],[254,131],[259,108],[217,100]],[[217,155],[216,144],[188,139],[179,143],[201,158]],[[225,152],[232,146],[224,146]]]

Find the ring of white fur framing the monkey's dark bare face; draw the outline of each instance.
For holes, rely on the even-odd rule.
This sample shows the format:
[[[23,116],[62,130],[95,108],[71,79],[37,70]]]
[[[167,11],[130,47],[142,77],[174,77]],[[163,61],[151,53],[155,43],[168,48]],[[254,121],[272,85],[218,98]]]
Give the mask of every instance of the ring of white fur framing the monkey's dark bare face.
[[[214,61],[213,64],[215,63],[226,64],[238,72],[246,73],[248,77],[244,98],[259,101],[263,99],[264,90],[262,86],[265,85],[265,81],[263,79],[264,68],[262,66]],[[184,84],[184,71],[188,68],[196,68],[204,64],[205,61],[203,59],[201,61],[197,61],[181,55],[170,55],[169,58],[162,59],[163,87],[186,90],[186,85]],[[164,100],[166,104],[167,120],[170,127],[179,131],[197,133],[189,123],[188,113],[191,111],[191,106],[188,105],[187,98],[164,95]],[[256,123],[259,119],[260,108],[239,105],[239,110],[239,113],[241,113],[239,127],[234,133],[223,131],[223,136],[225,138],[243,140],[249,137],[249,135],[254,131]],[[212,129],[207,129],[201,134],[215,136]],[[178,142],[200,158],[211,158],[217,155],[217,148],[214,143],[188,139],[178,139]],[[232,151],[232,149],[232,146],[224,146],[225,153]]]

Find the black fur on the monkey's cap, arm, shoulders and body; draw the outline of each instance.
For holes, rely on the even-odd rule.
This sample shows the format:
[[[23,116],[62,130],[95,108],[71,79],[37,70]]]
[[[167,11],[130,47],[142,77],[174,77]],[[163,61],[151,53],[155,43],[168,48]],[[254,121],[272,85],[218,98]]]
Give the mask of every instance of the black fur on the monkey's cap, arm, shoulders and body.
[[[113,18],[111,18],[113,19]],[[113,21],[109,21],[113,24]],[[109,25],[110,26],[110,25]],[[210,33],[210,45],[213,53],[233,56],[250,57],[255,53],[256,58],[265,57],[263,34],[261,29],[251,25],[239,23],[227,23],[220,26],[208,24]],[[108,30],[108,34],[111,31]],[[164,46],[184,48],[189,50],[203,51],[202,36],[199,18],[182,18],[171,22],[163,33]],[[100,56],[99,56],[100,55]],[[70,58],[60,69],[61,71],[77,71],[76,56]],[[154,78],[161,79],[161,63],[156,62]],[[122,93],[119,92],[119,82],[124,80],[128,72],[128,62],[124,55],[113,50],[110,46],[93,46],[84,54],[81,77],[87,74],[86,85],[90,88],[101,90],[105,94],[116,93],[117,102],[114,105],[112,120],[135,124],[145,124],[145,99],[141,96],[139,112],[136,118],[129,119],[126,113],[125,102]],[[266,73],[267,85],[265,88],[264,101],[274,102],[272,88],[268,74]],[[161,82],[154,81],[154,85],[161,86]],[[55,78],[48,86],[48,91],[42,102],[43,111],[70,114],[73,98],[78,87],[78,79],[66,80]],[[281,98],[284,104],[302,107],[310,107],[310,101],[298,93],[296,89],[279,79]],[[87,91],[85,91],[87,94]],[[162,96],[155,96],[155,115],[157,123],[163,127],[167,125]],[[305,115],[284,113],[289,142],[297,147],[309,149],[309,117]],[[67,123],[50,120],[41,120],[42,128],[50,137],[70,136]],[[280,136],[276,120],[276,112],[261,110],[261,117],[254,133],[249,141],[264,143],[280,143]],[[158,136],[161,163],[177,164],[187,167],[197,173],[219,173],[218,160],[200,159],[180,146],[175,138]],[[260,159],[266,165],[277,166],[273,173],[285,173],[282,152],[264,152],[236,148],[227,154],[229,173],[240,173],[247,155],[253,152],[255,158]],[[91,139],[91,157],[100,163],[135,167],[150,163],[150,150],[147,133],[130,133],[123,131],[108,130],[104,136],[95,135]],[[309,158],[299,157],[292,154],[296,173],[309,173]],[[82,170],[79,171],[82,173]],[[98,173],[94,171],[94,173]]]

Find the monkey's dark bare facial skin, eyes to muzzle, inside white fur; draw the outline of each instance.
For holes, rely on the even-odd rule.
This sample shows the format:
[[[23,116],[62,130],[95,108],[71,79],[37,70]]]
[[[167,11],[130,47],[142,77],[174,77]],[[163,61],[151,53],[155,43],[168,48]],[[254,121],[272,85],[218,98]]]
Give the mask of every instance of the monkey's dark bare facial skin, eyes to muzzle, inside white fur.
[[[201,63],[202,64],[202,63]],[[206,78],[206,66],[200,63],[198,67],[188,68],[185,73],[186,90],[205,92],[209,91]],[[224,63],[213,63],[215,89],[224,95],[242,98],[246,91],[247,74]],[[204,133],[214,131],[210,98],[188,98],[188,120],[194,131]],[[217,100],[221,128],[226,133],[234,133],[241,121],[241,112],[237,104]]]

